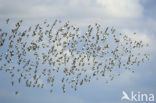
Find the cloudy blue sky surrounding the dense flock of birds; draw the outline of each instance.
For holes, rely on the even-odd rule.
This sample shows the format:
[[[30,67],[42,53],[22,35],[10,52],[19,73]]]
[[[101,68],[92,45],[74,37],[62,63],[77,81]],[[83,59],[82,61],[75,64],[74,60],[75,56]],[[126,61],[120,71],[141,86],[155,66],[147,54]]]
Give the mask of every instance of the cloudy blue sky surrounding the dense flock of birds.
[[[152,93],[156,96],[156,1],[155,0],[0,0],[1,22],[11,18],[23,19],[25,24],[40,23],[44,19],[70,21],[87,30],[89,24],[114,27],[150,44],[150,61],[135,68],[135,73],[124,71],[120,77],[106,84],[93,80],[78,91],[50,94],[47,89],[19,88],[15,96],[8,74],[0,71],[0,103],[122,103],[122,91]],[[152,102],[152,103],[156,103]]]

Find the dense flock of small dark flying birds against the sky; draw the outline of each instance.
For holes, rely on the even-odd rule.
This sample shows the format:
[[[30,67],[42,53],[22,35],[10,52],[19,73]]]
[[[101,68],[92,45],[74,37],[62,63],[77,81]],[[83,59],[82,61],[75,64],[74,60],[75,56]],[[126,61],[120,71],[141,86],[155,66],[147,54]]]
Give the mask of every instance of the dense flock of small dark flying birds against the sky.
[[[5,21],[7,29],[10,22]],[[113,27],[103,29],[95,23],[82,33],[69,21],[45,20],[28,28],[22,23],[0,29],[0,70],[9,73],[12,86],[48,87],[52,93],[54,84],[61,84],[64,93],[66,87],[76,91],[93,78],[107,77],[108,83],[149,60],[143,52],[148,44],[117,34]]]

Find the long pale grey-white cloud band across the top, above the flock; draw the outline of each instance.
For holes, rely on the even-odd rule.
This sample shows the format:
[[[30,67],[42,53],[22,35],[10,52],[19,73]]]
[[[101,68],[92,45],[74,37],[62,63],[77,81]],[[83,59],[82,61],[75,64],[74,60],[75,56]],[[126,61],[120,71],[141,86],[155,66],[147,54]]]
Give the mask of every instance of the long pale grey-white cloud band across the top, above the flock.
[[[67,16],[80,18],[138,18],[142,16],[139,0],[1,0],[1,17],[52,17]],[[3,4],[3,5],[2,5]]]

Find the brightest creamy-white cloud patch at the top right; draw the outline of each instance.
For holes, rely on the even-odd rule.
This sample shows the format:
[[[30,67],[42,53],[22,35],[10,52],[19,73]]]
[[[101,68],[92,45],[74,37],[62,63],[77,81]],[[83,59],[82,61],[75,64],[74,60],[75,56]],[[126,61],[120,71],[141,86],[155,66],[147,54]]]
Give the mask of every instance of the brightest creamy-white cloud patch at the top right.
[[[110,16],[119,18],[138,18],[142,16],[143,8],[139,0],[97,0],[103,10]]]

